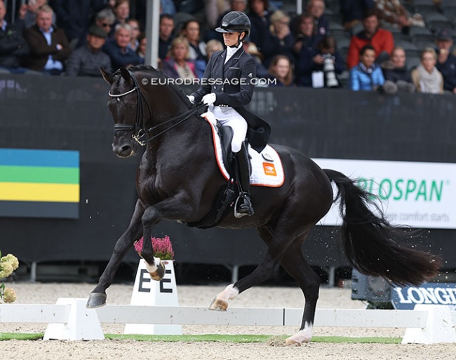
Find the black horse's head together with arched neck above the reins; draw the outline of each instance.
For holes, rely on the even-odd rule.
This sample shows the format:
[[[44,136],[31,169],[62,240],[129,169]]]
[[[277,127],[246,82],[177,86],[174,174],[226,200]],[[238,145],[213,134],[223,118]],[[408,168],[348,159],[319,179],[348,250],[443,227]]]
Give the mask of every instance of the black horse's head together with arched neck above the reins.
[[[172,128],[180,120],[179,114],[184,120],[192,115],[186,116],[192,104],[175,85],[165,81],[145,86],[152,85],[154,80],[166,80],[166,76],[153,67],[121,68],[114,74],[104,69],[100,71],[111,85],[107,106],[114,118],[112,151],[121,158],[128,158],[135,153],[138,144],[145,145]],[[144,85],[142,88],[140,83]]]

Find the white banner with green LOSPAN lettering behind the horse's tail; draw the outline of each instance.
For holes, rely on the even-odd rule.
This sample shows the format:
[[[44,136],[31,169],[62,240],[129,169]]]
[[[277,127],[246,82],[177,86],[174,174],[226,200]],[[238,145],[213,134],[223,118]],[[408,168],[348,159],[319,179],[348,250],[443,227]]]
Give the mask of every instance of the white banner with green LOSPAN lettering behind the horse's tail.
[[[378,160],[313,159],[356,179],[376,195],[387,219],[398,226],[456,229],[456,164]],[[320,225],[340,225],[333,206]]]

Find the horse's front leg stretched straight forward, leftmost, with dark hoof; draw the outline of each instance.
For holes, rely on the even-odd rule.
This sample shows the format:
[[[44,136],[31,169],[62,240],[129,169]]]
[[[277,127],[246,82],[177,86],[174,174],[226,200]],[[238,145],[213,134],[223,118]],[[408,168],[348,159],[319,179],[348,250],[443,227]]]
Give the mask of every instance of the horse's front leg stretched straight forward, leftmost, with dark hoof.
[[[135,212],[131,218],[130,225],[119,240],[117,240],[112,256],[109,259],[109,263],[98,280],[97,286],[90,293],[86,307],[93,308],[106,305],[106,289],[111,286],[117,268],[119,268],[122,259],[133,246],[133,242],[138,240],[142,235],[142,214],[144,214],[144,207],[142,206],[142,202],[138,200],[138,202],[136,202]]]

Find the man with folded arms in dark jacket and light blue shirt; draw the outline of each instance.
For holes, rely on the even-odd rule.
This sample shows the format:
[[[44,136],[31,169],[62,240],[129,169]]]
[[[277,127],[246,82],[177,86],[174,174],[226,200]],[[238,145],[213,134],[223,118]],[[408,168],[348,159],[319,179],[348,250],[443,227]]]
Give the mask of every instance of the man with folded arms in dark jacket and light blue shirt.
[[[24,32],[30,47],[25,67],[48,75],[60,75],[64,62],[72,52],[65,32],[52,24],[53,9],[43,5],[36,13],[36,25]]]

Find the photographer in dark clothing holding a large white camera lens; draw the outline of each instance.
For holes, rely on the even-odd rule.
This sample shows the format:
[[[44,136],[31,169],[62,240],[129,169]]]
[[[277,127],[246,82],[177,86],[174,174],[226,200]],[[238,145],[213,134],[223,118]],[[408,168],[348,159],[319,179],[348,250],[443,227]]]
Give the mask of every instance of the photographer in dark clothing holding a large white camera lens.
[[[297,63],[297,85],[313,88],[338,88],[336,74],[344,71],[344,60],[337,51],[333,36],[325,36],[315,48],[301,50]]]

